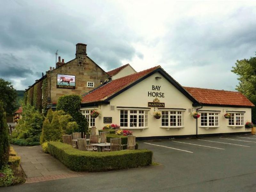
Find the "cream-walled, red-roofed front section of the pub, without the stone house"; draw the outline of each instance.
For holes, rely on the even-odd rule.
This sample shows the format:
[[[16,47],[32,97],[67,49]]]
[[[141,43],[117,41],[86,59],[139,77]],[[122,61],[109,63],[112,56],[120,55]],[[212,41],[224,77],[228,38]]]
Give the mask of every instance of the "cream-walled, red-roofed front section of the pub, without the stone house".
[[[89,127],[119,124],[137,137],[244,133],[254,105],[240,92],[182,87],[161,66],[110,80],[82,97]],[[90,112],[100,116],[92,118]],[[156,119],[155,112],[161,113]],[[195,119],[191,113],[198,112]],[[230,118],[224,114],[229,113]]]

